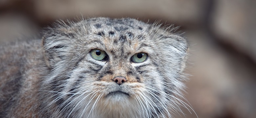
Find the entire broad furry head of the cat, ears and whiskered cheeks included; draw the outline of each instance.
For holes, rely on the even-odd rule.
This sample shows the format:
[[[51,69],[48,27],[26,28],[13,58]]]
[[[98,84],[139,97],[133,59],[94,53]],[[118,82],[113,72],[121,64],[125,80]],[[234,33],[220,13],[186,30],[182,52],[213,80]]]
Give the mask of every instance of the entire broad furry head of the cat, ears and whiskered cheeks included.
[[[170,117],[187,49],[182,37],[129,18],[60,25],[43,38],[48,107],[66,117]]]

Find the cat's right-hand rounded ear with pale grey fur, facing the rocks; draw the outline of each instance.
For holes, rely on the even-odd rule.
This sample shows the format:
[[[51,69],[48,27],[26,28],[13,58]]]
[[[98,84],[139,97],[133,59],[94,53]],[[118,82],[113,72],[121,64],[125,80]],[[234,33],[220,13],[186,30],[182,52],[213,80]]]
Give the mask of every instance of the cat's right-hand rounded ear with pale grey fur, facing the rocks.
[[[166,72],[179,76],[186,65],[188,43],[179,35],[161,33],[154,37],[158,47],[159,57],[163,60],[162,66]]]

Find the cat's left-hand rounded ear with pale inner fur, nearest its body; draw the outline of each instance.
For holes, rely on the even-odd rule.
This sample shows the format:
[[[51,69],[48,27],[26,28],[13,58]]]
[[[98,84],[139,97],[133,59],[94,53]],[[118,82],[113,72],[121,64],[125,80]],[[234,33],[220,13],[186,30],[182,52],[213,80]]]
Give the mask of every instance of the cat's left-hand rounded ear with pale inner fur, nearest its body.
[[[67,56],[73,33],[67,33],[58,29],[48,31],[42,38],[44,59],[48,67],[54,68],[57,63],[63,61]]]

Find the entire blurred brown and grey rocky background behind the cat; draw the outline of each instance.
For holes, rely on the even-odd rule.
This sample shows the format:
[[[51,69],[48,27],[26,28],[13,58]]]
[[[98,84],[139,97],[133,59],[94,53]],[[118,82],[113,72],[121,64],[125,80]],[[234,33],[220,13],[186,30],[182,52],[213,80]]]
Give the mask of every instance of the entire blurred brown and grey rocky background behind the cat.
[[[256,0],[0,0],[0,43],[82,15],[175,24],[191,44],[184,94],[198,117],[255,118],[255,12]]]

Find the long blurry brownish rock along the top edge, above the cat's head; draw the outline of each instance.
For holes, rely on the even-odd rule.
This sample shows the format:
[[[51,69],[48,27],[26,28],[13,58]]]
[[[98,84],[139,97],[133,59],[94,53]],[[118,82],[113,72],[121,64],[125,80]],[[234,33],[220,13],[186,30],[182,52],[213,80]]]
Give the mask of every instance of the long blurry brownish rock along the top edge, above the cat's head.
[[[179,24],[200,24],[208,0],[35,0],[40,20],[80,17],[157,18]]]

